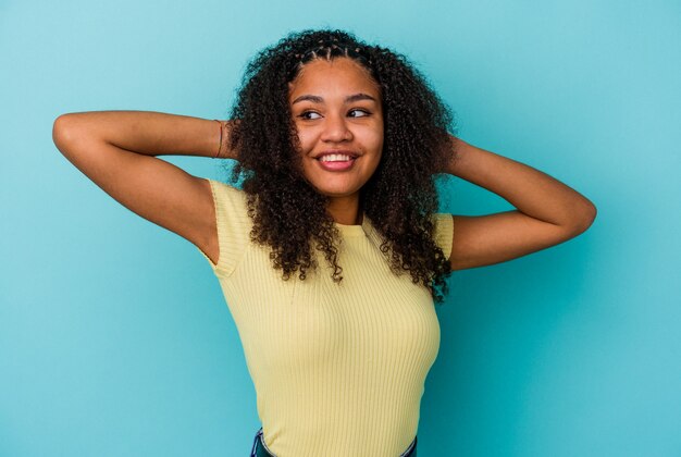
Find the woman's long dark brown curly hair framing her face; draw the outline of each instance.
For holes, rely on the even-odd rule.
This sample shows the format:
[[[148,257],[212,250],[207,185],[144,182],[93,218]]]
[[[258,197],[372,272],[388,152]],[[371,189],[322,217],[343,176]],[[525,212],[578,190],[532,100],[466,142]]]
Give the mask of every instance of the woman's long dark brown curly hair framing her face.
[[[369,71],[380,87],[384,113],[381,162],[360,190],[360,208],[383,240],[395,274],[409,272],[414,284],[442,302],[449,262],[433,239],[437,210],[434,174],[451,160],[453,116],[406,57],[369,46],[343,30],[292,33],[260,51],[247,65],[231,119],[230,146],[237,164],[232,181],[243,181],[251,239],[269,246],[272,265],[289,280],[305,280],[318,263],[314,249],[343,280],[340,242],[326,212],[327,197],[302,175],[299,139],[288,102],[288,83],[314,59],[349,58]],[[408,170],[408,173],[405,171]]]

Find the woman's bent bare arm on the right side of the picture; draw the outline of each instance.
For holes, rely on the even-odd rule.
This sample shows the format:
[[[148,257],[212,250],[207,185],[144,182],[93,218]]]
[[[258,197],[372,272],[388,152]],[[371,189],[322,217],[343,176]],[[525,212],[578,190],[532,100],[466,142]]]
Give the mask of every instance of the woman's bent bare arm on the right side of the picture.
[[[584,232],[596,207],[577,190],[531,166],[455,138],[446,173],[504,197],[516,210],[453,214],[453,270],[504,262]]]

